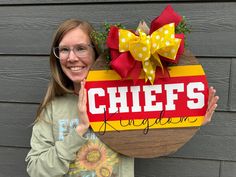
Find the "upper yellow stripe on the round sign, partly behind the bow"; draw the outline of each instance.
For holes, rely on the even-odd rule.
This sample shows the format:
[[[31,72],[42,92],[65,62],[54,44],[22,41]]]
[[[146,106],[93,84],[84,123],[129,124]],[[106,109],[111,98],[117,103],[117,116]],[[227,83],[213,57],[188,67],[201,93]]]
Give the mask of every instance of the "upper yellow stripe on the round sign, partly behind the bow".
[[[201,76],[205,75],[201,65],[185,65],[168,67],[170,77],[181,76]],[[144,73],[140,75],[140,79],[144,79]],[[112,81],[121,80],[120,75],[114,70],[92,70],[89,72],[87,81]]]

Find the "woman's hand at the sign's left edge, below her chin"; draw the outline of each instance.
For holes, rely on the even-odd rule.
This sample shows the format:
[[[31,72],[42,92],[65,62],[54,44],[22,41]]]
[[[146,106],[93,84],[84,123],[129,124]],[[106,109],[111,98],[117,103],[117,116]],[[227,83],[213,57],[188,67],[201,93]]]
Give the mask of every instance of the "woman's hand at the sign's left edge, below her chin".
[[[84,86],[85,80],[81,81],[78,98],[79,125],[76,127],[76,131],[81,136],[83,136],[89,128],[89,118],[87,114],[87,91]]]

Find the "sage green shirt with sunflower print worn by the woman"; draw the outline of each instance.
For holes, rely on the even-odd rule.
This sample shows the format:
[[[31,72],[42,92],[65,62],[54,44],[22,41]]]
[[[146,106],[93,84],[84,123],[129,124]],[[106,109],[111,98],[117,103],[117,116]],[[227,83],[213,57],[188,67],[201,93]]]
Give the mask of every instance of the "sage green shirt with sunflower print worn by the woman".
[[[31,177],[133,177],[134,159],[114,152],[90,130],[81,137],[77,96],[55,98],[32,131],[26,161]]]

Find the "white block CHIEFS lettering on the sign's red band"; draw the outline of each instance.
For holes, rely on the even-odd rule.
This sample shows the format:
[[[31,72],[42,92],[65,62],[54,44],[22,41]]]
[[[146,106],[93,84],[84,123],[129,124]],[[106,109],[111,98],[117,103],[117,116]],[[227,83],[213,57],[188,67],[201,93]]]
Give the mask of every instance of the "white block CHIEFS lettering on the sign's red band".
[[[109,96],[110,104],[108,108],[109,113],[119,111],[120,113],[126,112],[144,112],[151,111],[174,111],[176,110],[175,101],[181,99],[178,97],[178,93],[185,92],[184,83],[164,84],[164,85],[143,85],[143,86],[121,86],[121,87],[108,87],[103,88],[91,88],[88,90],[89,111],[92,114],[102,114],[106,109],[105,104],[96,105],[97,97]],[[205,96],[203,91],[205,85],[202,82],[190,82],[186,85],[187,94],[187,107],[189,109],[201,109],[204,106]],[[128,106],[127,93],[132,95],[132,106]],[[144,94],[144,106],[140,105],[140,92]],[[166,104],[158,102],[156,100],[157,94],[165,92]],[[120,105],[117,107],[117,103]]]

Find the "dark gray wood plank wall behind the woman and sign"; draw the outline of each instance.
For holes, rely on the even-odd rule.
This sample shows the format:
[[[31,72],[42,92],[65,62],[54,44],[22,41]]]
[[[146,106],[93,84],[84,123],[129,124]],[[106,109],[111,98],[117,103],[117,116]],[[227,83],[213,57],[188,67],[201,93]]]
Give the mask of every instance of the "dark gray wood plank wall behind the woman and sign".
[[[137,177],[236,176],[236,2],[161,0],[0,0],[0,177],[27,177],[31,126],[49,79],[53,31],[68,18],[99,28],[135,28],[168,4],[188,17],[189,49],[220,102],[212,122],[168,157],[136,159]]]

